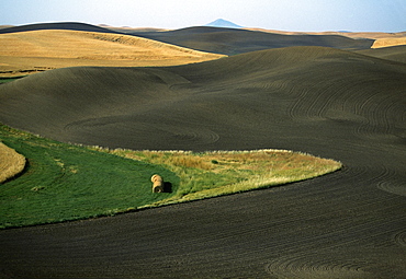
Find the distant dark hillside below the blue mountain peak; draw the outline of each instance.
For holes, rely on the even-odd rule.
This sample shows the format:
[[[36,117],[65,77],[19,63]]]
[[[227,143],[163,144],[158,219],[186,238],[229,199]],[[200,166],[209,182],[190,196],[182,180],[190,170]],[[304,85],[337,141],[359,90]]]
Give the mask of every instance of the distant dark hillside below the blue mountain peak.
[[[168,32],[132,33],[178,46],[208,53],[236,55],[290,46],[324,46],[340,49],[370,48],[373,39],[352,39],[338,35],[282,35],[247,30],[189,27]]]

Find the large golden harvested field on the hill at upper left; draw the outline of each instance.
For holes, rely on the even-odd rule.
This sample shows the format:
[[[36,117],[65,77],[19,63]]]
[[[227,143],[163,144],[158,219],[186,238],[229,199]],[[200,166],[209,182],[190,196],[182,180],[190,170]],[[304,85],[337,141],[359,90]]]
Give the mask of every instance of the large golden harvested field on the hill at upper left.
[[[223,57],[129,35],[66,30],[1,34],[0,45],[2,77],[74,66],[174,66]]]

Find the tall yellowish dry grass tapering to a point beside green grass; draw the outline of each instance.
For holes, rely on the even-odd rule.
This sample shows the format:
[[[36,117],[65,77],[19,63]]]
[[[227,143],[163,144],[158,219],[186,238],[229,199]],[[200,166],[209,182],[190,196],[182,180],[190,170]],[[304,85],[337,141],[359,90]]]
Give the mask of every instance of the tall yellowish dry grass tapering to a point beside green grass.
[[[341,168],[341,163],[287,150],[109,151],[159,164],[180,177],[177,195],[153,206],[217,197],[314,178]],[[150,205],[149,205],[150,206]]]

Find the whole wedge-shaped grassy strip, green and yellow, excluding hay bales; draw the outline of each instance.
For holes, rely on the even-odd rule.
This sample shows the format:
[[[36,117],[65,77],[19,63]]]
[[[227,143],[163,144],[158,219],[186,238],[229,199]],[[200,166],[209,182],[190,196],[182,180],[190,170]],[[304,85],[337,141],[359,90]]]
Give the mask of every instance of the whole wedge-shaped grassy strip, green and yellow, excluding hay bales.
[[[0,125],[4,144],[26,158],[0,185],[0,229],[114,216],[313,178],[339,162],[281,151],[109,150],[67,144]],[[153,193],[150,176],[170,185]]]

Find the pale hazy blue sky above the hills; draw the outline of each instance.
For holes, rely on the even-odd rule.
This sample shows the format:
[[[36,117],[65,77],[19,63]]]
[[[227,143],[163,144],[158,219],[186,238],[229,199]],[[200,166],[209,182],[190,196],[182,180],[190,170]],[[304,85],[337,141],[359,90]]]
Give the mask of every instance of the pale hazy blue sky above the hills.
[[[0,24],[181,28],[225,19],[283,31],[406,31],[406,0],[0,0]]]

